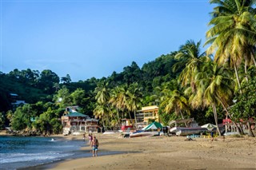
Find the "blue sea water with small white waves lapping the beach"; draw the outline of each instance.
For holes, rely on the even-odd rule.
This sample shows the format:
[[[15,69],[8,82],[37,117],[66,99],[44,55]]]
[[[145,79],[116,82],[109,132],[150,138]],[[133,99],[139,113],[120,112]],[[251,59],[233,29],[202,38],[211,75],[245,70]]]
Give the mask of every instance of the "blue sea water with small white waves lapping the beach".
[[[42,136],[0,136],[0,169],[17,169],[86,156],[83,140]]]

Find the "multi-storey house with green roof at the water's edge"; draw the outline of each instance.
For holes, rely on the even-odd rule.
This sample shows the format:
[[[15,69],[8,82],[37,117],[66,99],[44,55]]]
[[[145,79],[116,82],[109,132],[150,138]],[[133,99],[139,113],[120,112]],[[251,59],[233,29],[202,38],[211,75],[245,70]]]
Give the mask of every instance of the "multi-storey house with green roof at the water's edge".
[[[78,113],[77,107],[67,107],[65,114],[62,116],[63,134],[98,132],[102,127],[98,125],[98,120],[90,118],[86,114]]]

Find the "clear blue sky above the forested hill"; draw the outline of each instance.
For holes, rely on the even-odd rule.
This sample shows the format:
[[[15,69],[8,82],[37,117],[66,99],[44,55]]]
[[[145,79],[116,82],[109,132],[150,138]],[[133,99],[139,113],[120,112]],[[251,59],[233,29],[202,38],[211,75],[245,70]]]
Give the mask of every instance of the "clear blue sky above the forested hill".
[[[50,69],[72,81],[108,77],[205,42],[208,0],[1,1],[1,71]]]

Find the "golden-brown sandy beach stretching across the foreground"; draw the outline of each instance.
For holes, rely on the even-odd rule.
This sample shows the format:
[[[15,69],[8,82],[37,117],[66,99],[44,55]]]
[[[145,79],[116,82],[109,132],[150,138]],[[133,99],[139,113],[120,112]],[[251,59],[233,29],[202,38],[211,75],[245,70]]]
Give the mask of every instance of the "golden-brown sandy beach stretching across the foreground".
[[[256,169],[256,138],[208,137],[186,140],[182,136],[122,138],[120,134],[95,134],[97,157],[65,160],[51,169]],[[71,137],[71,136],[68,136]],[[90,152],[90,147],[83,147]],[[101,156],[101,152],[121,151]]]

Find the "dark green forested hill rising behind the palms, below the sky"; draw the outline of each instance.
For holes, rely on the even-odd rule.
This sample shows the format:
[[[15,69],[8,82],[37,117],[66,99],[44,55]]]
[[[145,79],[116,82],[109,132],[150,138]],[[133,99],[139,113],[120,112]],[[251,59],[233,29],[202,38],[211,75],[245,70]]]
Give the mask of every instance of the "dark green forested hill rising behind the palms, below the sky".
[[[108,82],[110,88],[137,82],[138,85],[143,87],[144,95],[150,96],[155,87],[176,77],[171,69],[176,62],[174,54],[170,53],[157,57],[154,61],[144,64],[142,68],[139,68],[136,62],[133,61],[131,65],[124,67],[121,73],[114,71],[109,77],[102,77],[101,79],[91,77],[78,82],[72,82],[69,74],[66,77],[58,77],[54,71],[49,69],[43,70],[41,73],[38,70],[31,69],[14,69],[10,73],[0,73],[0,112],[11,109],[10,93],[18,94],[18,100],[34,104],[38,101],[52,101],[54,94],[63,86],[69,89],[70,93],[81,88],[85,90],[86,97],[92,97],[91,101],[94,101],[94,96],[91,93],[100,81]],[[90,113],[92,113],[92,110],[90,110]]]

